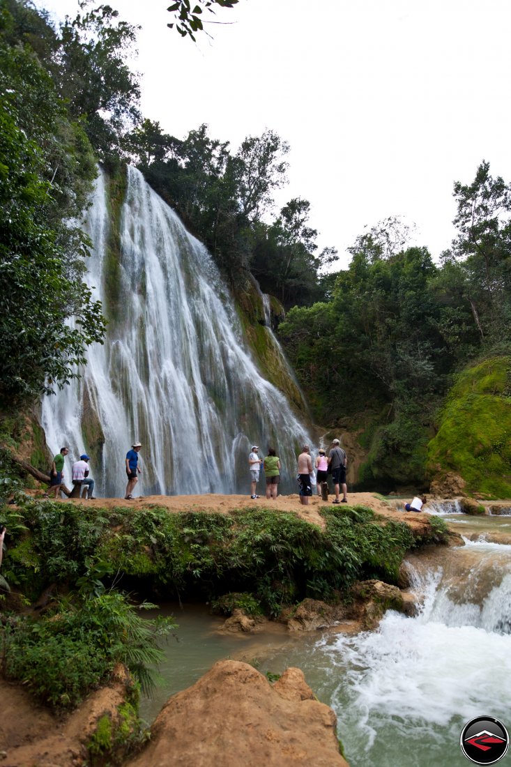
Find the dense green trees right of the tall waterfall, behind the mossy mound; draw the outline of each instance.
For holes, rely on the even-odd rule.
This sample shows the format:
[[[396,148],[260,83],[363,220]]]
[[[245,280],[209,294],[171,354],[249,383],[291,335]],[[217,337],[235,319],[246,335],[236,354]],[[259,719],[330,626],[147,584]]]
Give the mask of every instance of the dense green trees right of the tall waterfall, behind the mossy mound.
[[[427,486],[427,444],[453,375],[509,351],[510,187],[482,163],[454,196],[459,235],[440,265],[403,248],[407,232],[389,219],[355,242],[329,301],[293,308],[279,327],[315,418],[361,430],[366,488]]]

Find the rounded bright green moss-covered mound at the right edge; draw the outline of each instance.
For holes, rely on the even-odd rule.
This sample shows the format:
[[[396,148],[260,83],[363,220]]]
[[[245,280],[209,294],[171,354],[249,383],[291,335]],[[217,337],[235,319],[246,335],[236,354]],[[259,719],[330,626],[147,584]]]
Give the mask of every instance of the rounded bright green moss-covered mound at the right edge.
[[[510,357],[492,357],[463,370],[427,447],[430,475],[455,472],[469,494],[511,498],[510,389]]]

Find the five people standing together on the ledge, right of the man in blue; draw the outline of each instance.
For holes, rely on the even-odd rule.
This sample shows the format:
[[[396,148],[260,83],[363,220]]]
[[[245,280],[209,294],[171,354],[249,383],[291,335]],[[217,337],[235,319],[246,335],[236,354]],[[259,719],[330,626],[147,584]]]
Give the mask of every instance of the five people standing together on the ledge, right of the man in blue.
[[[312,465],[312,456],[310,446],[304,445],[302,453],[298,456],[298,488],[300,502],[308,505],[308,499],[312,495],[313,486],[317,487],[318,495],[321,495],[321,483],[327,482],[328,474],[331,474],[331,480],[334,485],[335,499],[332,503],[348,503],[348,489],[346,486],[346,466],[348,456],[345,450],[341,448],[338,439],[332,440],[328,456],[326,450],[320,448],[318,456]],[[259,456],[259,446],[252,445],[252,452],[249,455],[250,471],[250,497],[259,498],[257,495],[257,483],[259,482],[259,472],[261,467],[264,469],[266,477],[266,498],[275,499],[279,491],[281,464],[279,456],[275,453],[275,448],[269,447],[268,455],[265,458]],[[339,497],[341,495],[342,499]]]

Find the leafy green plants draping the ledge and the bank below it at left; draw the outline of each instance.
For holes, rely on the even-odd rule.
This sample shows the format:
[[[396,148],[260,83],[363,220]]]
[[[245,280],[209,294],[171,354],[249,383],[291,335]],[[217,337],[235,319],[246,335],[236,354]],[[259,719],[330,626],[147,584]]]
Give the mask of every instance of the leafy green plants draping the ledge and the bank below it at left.
[[[2,668],[58,707],[76,705],[119,662],[150,686],[157,639],[173,625],[143,620],[119,586],[136,585],[139,599],[150,592],[278,615],[306,596],[348,599],[359,579],[395,582],[416,545],[407,525],[362,507],[325,507],[322,530],[269,509],[107,512],[21,492],[15,499],[16,506],[0,505],[9,532],[2,574],[15,598],[6,601],[0,584],[0,608],[42,596],[43,610],[2,621]],[[440,532],[431,528],[428,540]]]

